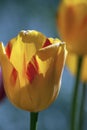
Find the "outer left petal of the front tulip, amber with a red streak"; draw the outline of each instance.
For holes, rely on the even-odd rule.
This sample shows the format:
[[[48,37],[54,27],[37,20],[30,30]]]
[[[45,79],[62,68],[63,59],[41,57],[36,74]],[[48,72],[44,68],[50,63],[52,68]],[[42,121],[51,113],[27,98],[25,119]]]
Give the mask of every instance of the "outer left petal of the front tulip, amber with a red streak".
[[[26,108],[26,110],[31,110],[27,109],[27,107],[31,108],[32,106],[31,97],[28,90],[29,86],[26,84],[24,89],[21,88],[18,72],[9,61],[4,50],[5,48],[3,44],[0,43],[0,63],[7,97],[15,106],[22,107],[23,109]]]

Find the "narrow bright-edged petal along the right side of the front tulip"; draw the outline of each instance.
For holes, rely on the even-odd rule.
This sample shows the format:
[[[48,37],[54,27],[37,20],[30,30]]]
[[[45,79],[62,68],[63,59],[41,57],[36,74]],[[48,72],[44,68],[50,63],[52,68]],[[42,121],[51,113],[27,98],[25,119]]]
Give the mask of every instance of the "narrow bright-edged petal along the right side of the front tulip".
[[[62,81],[62,74],[64,69],[64,64],[67,56],[67,51],[65,49],[65,44],[60,44],[59,49],[56,55],[55,61],[55,87],[54,92],[49,104],[52,103],[59,94],[61,81]]]

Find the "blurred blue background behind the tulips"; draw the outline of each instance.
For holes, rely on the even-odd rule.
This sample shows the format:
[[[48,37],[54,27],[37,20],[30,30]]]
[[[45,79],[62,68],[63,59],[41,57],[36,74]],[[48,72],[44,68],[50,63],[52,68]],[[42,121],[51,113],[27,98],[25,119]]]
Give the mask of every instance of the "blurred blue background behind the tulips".
[[[58,3],[58,0],[1,0],[0,41],[6,44],[20,30],[28,29],[58,37],[55,22]],[[74,80],[65,67],[59,96],[48,109],[39,113],[38,130],[70,130]],[[86,130],[87,104],[84,113]],[[0,130],[29,130],[29,114],[15,108],[6,98],[0,103]]]

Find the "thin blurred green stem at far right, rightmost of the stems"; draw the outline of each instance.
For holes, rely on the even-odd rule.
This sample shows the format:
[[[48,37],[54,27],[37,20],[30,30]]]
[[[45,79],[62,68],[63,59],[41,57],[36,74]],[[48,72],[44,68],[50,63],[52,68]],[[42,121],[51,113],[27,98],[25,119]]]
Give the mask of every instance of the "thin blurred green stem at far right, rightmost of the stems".
[[[78,130],[83,130],[83,121],[84,121],[84,105],[86,100],[86,83],[83,83],[82,86],[82,99],[81,99],[81,107],[80,107],[80,116],[79,116],[79,128]]]

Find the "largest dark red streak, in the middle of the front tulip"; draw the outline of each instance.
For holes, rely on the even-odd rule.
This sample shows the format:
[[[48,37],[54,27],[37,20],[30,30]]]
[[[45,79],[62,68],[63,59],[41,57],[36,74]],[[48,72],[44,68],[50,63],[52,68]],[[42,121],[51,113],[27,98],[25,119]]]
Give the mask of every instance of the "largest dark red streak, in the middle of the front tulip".
[[[32,83],[34,77],[38,74],[38,70],[39,70],[38,62],[35,56],[33,56],[32,60],[27,65],[27,71],[26,71],[30,83]]]

